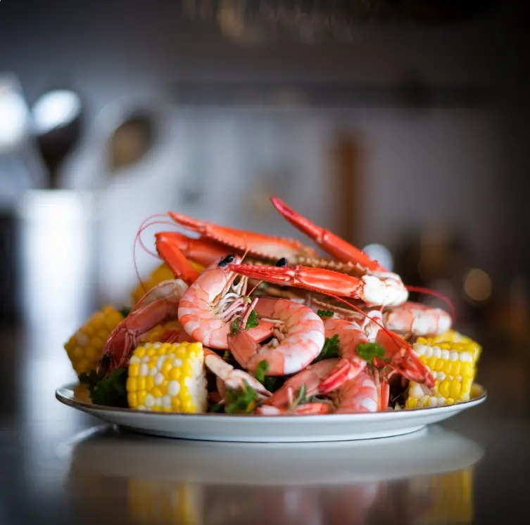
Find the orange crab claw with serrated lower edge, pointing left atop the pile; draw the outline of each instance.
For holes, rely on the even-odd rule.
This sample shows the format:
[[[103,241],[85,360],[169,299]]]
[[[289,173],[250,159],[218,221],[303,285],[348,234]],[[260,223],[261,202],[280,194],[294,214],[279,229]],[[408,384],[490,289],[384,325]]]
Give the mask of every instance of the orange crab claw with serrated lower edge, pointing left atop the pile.
[[[239,250],[239,252],[248,251],[249,255],[255,257],[270,260],[286,257],[289,260],[293,260],[299,254],[303,254],[306,257],[317,256],[313,249],[304,246],[296,239],[275,237],[272,235],[264,235],[263,233],[219,226],[175,212],[168,212],[168,214],[180,226],[200,233],[202,238]]]

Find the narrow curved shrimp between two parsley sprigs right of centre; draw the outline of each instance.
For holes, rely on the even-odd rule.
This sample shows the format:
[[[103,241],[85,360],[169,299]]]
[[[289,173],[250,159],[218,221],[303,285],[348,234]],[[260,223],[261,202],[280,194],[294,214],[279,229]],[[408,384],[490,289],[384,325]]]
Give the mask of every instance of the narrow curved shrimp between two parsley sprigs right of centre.
[[[322,394],[334,391],[346,381],[352,380],[366,366],[366,361],[357,354],[359,344],[368,343],[365,331],[354,320],[338,317],[328,317],[324,320],[326,337],[339,339],[339,353],[341,359],[327,377],[320,382],[319,390]]]

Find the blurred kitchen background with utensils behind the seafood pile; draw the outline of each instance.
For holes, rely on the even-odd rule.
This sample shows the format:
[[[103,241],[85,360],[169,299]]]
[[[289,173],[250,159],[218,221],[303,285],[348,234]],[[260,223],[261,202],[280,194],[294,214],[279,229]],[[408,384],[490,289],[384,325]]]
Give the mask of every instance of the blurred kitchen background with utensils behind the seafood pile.
[[[129,302],[151,214],[303,239],[278,195],[448,294],[469,335],[524,341],[528,37],[506,4],[2,0],[0,324],[68,337]]]

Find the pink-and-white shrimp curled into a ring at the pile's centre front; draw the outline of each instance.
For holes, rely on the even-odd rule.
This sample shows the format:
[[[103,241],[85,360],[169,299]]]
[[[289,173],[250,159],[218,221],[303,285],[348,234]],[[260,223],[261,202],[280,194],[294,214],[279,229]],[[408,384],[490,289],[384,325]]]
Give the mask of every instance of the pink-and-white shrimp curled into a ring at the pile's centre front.
[[[308,306],[289,299],[258,299],[254,310],[277,325],[275,338],[264,346],[255,342],[251,330],[238,330],[228,336],[232,355],[246,370],[255,372],[260,361],[267,361],[265,375],[294,374],[322,351],[324,323]]]

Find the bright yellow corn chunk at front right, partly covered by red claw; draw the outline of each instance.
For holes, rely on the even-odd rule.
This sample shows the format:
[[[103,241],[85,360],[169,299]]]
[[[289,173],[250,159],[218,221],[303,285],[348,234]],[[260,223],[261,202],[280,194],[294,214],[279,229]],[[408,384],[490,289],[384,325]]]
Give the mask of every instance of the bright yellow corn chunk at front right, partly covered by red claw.
[[[438,336],[439,337],[439,336]],[[477,343],[434,342],[418,337],[412,350],[419,361],[434,375],[434,389],[429,391],[420,384],[410,382],[405,408],[448,405],[469,400],[469,393],[476,375]]]

